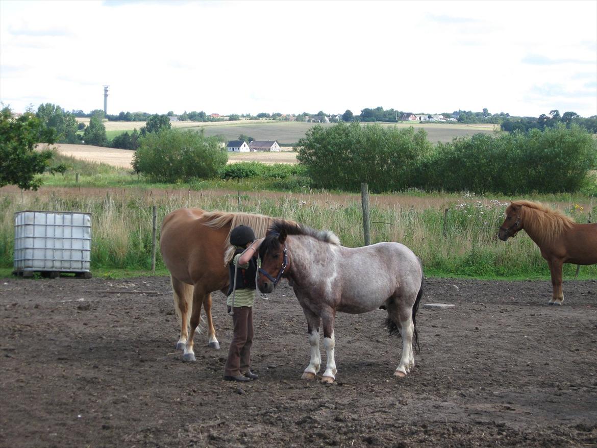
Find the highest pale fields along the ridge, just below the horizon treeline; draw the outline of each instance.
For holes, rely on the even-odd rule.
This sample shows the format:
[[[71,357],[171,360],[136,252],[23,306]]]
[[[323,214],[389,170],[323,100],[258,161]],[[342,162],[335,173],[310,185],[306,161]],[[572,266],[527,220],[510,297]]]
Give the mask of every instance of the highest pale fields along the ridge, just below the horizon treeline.
[[[85,122],[89,119],[79,119]],[[145,125],[143,121],[106,121],[106,132],[110,136],[114,134],[110,131],[132,131],[134,128],[139,130]],[[253,137],[256,140],[276,140],[279,145],[292,146],[304,137],[307,130],[317,125],[317,123],[303,123],[296,121],[217,121],[217,122],[196,122],[196,121],[175,121],[174,128],[189,128],[200,130],[204,128],[206,136],[223,136],[224,140],[236,140],[240,134]],[[427,138],[432,143],[451,142],[454,137],[470,136],[476,133],[493,134],[493,124],[447,124],[447,123],[426,123],[418,122],[400,122],[398,124],[382,123],[384,127],[398,126],[405,128],[413,126],[414,128],[423,128],[427,131]],[[323,127],[333,126],[331,123],[321,124]],[[499,127],[497,127],[499,129]],[[112,137],[113,138],[113,137]]]

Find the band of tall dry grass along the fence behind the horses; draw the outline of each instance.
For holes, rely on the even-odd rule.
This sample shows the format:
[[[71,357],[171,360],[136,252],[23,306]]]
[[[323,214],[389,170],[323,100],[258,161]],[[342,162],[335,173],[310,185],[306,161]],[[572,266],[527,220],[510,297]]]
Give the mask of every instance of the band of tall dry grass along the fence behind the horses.
[[[149,269],[152,207],[159,223],[179,207],[247,211],[284,217],[317,229],[331,229],[344,246],[364,244],[358,195],[326,193],[239,194],[221,191],[143,191],[134,189],[0,190],[0,266],[13,265],[14,213],[21,210],[80,211],[92,216],[93,268]],[[473,277],[547,276],[547,263],[526,235],[497,240],[506,202],[460,198],[384,197],[370,201],[372,243],[399,241],[422,260],[427,275]],[[577,216],[579,222],[586,220]],[[163,267],[159,251],[156,265]],[[576,266],[568,266],[573,275]],[[597,266],[583,268],[597,275]]]

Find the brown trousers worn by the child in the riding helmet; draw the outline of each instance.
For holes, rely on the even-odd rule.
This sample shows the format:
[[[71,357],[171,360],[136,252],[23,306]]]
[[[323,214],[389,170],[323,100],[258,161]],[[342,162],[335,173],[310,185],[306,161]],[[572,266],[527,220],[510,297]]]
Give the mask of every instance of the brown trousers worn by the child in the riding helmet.
[[[251,367],[251,345],[253,345],[253,308],[235,306],[232,309],[234,336],[228,349],[228,359],[224,375],[236,376],[247,372]]]

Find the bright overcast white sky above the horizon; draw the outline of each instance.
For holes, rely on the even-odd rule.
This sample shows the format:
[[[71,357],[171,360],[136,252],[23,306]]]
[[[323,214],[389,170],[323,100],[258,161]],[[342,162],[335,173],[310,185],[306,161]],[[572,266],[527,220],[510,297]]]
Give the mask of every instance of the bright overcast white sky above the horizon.
[[[15,112],[597,115],[597,1],[0,0]]]

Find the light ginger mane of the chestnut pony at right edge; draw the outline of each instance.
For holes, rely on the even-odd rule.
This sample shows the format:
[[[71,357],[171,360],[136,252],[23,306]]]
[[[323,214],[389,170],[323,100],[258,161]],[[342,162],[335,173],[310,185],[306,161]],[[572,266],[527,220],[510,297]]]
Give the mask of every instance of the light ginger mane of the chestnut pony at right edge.
[[[552,242],[562,231],[571,228],[574,224],[574,220],[561,211],[553,210],[539,202],[512,201],[506,208],[506,213],[509,213],[512,205],[521,207],[519,216],[525,228],[530,229],[544,243]]]

